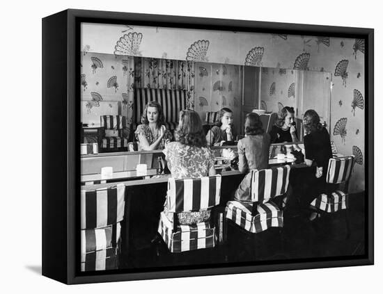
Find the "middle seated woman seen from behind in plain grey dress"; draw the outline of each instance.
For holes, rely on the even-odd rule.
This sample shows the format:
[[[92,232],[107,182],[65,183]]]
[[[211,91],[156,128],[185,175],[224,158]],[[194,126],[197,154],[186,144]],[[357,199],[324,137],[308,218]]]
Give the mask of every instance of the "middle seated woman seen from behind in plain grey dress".
[[[238,169],[240,172],[263,170],[269,165],[270,136],[265,133],[259,115],[249,113],[244,122],[245,137],[238,141]],[[235,199],[250,202],[251,173],[248,173],[235,191]]]

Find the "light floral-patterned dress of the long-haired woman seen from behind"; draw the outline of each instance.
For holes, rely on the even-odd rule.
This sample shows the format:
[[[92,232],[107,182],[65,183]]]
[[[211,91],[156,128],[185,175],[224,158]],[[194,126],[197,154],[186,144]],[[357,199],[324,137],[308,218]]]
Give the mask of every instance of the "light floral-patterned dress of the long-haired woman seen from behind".
[[[171,176],[175,179],[201,178],[209,175],[214,166],[214,156],[206,147],[183,145],[180,142],[170,142],[164,149]],[[173,221],[173,214],[168,213],[167,203],[164,212]],[[205,222],[210,218],[210,211],[178,213],[180,224],[195,224]]]

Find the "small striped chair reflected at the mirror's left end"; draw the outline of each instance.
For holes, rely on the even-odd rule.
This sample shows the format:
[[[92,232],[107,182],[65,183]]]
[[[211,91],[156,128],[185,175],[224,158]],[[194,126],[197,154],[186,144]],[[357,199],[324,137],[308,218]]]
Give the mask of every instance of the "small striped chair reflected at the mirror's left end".
[[[126,117],[123,115],[102,115],[100,122],[105,133],[100,149],[103,152],[127,151],[127,138],[123,138]]]

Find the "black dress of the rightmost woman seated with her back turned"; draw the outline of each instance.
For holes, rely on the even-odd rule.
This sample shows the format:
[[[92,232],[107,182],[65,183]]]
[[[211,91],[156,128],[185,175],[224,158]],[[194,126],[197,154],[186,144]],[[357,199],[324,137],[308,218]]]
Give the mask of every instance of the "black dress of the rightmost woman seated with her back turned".
[[[305,158],[310,159],[318,168],[322,168],[322,177],[315,177],[315,170],[307,174],[305,184],[307,192],[302,199],[302,204],[306,207],[320,195],[327,192],[328,184],[326,183],[327,168],[329,159],[332,158],[330,136],[327,129],[322,128],[320,131],[315,131],[304,136],[304,151]]]

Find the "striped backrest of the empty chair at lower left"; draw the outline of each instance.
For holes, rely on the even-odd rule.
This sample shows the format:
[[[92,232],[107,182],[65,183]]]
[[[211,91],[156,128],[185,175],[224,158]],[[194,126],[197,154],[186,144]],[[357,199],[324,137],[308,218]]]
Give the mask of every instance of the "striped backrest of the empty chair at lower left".
[[[125,185],[94,191],[81,190],[81,229],[116,224],[124,218]]]

